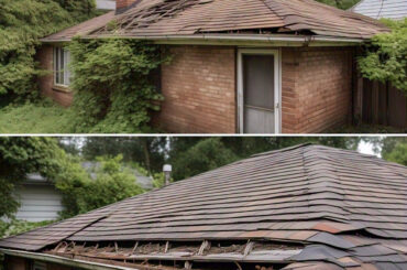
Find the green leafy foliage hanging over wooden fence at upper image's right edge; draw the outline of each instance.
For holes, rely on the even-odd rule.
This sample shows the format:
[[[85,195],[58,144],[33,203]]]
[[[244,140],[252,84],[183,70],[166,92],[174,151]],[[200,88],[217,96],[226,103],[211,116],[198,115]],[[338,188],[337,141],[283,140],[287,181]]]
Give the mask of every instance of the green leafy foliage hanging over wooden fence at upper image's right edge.
[[[392,32],[372,39],[358,61],[359,66],[364,77],[389,82],[407,95],[407,19],[385,23]]]

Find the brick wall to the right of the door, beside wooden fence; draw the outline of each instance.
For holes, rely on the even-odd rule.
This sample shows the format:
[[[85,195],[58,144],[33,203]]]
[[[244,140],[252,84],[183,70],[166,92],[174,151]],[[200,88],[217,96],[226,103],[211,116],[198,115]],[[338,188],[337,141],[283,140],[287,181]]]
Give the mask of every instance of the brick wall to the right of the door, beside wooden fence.
[[[351,119],[352,48],[283,48],[284,133],[317,133]]]

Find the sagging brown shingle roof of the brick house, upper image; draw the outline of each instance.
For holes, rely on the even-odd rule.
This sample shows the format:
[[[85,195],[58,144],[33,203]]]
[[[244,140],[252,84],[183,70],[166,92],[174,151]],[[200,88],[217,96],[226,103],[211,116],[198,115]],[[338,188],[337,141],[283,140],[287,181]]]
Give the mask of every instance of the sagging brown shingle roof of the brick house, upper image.
[[[75,32],[88,37],[123,36],[160,39],[168,36],[228,34],[318,35],[369,39],[387,29],[378,21],[314,0],[140,0],[111,18],[111,23],[88,22]],[[97,19],[95,19],[97,20]],[[103,20],[101,20],[103,21]],[[98,24],[98,25],[97,25]],[[87,34],[85,34],[85,32]],[[58,35],[58,34],[56,34]],[[44,41],[53,41],[55,36]]]

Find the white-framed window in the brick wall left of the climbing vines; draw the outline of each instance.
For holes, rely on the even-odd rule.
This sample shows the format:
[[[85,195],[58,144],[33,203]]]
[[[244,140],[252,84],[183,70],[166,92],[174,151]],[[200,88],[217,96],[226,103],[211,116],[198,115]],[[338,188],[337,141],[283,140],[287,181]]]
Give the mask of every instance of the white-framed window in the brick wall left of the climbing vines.
[[[69,51],[64,47],[54,47],[54,84],[69,86],[70,72],[68,64],[70,61]]]

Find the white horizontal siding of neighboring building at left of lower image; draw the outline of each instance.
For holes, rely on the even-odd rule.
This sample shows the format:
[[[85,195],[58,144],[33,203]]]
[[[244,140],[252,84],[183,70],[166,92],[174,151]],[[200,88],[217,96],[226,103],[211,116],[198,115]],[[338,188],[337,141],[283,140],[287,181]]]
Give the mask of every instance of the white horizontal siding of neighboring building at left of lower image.
[[[25,184],[15,191],[21,206],[15,215],[18,219],[43,222],[58,218],[63,209],[62,195],[50,184]]]

